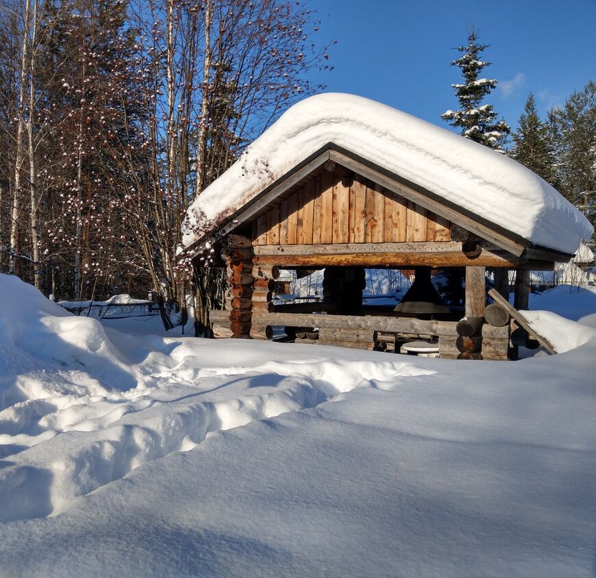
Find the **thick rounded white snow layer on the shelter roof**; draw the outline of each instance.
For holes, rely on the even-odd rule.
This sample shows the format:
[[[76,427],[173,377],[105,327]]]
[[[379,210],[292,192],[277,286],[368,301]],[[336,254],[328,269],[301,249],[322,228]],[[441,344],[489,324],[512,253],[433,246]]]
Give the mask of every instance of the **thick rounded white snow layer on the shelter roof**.
[[[186,247],[309,155],[334,142],[534,244],[574,253],[590,223],[521,164],[395,110],[340,93],[290,108],[191,205]]]

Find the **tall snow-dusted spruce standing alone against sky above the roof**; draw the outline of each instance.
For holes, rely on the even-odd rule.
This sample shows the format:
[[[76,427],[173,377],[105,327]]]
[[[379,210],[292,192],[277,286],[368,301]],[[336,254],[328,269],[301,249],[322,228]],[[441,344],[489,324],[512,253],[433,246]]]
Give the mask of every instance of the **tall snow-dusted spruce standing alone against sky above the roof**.
[[[465,84],[451,86],[455,89],[460,110],[447,110],[441,114],[441,118],[452,127],[461,129],[465,138],[504,152],[503,145],[511,129],[504,120],[496,120],[498,115],[493,110],[493,105],[482,104],[484,97],[497,86],[497,80],[493,78],[479,78],[483,68],[491,64],[480,59],[480,53],[487,47],[488,45],[478,43],[478,35],[474,29],[469,33],[468,44],[458,47],[457,50],[463,54],[451,61],[451,66],[461,68]]]

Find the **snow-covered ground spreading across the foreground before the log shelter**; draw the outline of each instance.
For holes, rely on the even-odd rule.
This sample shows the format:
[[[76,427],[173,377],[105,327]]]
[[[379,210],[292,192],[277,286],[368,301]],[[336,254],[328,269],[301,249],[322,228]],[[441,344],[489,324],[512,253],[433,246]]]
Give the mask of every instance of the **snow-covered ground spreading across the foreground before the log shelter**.
[[[593,576],[596,292],[537,306],[583,344],[464,363],[132,336],[0,276],[0,575]]]

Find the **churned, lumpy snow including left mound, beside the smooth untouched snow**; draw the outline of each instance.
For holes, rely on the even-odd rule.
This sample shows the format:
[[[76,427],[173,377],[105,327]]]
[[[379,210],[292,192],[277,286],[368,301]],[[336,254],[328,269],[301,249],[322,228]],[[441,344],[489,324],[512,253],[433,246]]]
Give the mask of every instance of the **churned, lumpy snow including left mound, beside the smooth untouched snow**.
[[[106,331],[0,275],[0,521],[57,514],[210,433],[434,373],[335,348],[266,361],[275,345]]]

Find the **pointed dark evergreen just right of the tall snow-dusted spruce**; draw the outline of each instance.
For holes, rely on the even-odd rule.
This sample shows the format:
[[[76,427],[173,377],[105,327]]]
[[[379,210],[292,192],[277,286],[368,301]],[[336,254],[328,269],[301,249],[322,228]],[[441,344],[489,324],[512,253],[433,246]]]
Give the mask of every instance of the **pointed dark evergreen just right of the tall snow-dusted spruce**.
[[[519,117],[517,133],[513,135],[514,147],[510,155],[545,181],[556,185],[551,130],[538,116],[532,92],[525,101],[524,111]]]

